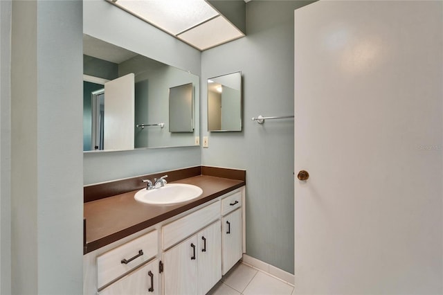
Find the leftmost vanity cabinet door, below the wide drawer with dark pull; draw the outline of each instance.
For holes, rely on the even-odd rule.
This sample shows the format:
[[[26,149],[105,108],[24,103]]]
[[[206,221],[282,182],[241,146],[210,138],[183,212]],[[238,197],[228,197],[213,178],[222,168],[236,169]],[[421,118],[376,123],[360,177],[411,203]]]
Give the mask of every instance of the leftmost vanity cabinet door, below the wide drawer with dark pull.
[[[132,271],[99,292],[99,295],[159,295],[159,260]]]

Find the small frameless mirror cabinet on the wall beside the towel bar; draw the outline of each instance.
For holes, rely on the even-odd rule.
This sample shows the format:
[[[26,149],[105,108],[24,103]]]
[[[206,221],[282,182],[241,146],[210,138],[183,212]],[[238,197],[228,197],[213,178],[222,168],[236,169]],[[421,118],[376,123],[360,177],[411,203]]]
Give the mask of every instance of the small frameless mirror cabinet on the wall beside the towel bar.
[[[242,131],[242,72],[208,79],[208,131]]]

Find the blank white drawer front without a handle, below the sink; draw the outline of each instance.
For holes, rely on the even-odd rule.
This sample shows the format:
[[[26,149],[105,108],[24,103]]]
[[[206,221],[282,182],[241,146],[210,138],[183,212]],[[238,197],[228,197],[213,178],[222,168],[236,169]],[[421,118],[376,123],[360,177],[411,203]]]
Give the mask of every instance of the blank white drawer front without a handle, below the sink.
[[[220,216],[220,201],[190,213],[179,220],[163,226],[163,249],[168,249],[199,229],[217,220]]]

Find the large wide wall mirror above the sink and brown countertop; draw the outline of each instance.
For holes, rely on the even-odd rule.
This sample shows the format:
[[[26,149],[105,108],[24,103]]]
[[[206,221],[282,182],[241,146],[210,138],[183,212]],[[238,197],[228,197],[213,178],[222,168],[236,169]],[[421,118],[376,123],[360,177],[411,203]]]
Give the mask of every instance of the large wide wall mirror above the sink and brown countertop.
[[[199,76],[89,35],[83,73],[84,151],[195,145]]]

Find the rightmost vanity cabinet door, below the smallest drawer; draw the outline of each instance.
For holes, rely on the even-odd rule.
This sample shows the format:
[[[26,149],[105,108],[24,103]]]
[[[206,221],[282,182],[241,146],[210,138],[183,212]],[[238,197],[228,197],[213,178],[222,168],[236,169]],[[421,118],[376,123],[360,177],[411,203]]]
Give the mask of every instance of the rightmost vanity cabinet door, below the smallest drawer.
[[[224,216],[222,222],[222,274],[225,275],[231,267],[242,258],[242,210],[237,209]]]

